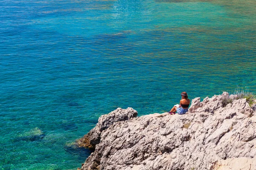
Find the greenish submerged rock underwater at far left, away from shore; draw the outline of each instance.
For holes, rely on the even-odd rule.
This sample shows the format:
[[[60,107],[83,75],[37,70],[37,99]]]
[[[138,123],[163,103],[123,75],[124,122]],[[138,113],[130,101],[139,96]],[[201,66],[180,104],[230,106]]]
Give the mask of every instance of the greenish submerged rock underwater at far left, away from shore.
[[[34,129],[29,130],[28,132],[25,132],[23,134],[20,134],[17,136],[17,140],[22,141],[37,141],[40,139],[43,139],[45,134],[42,130],[40,130],[38,127],[35,127]]]

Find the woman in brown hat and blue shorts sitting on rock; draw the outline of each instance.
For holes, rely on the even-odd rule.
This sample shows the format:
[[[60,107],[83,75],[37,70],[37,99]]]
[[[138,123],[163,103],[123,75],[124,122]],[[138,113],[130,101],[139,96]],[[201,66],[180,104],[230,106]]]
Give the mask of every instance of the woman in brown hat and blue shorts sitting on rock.
[[[188,99],[188,94],[185,91],[183,91],[181,93],[180,105],[174,105],[171,111],[169,111],[169,113],[173,115],[177,111],[178,114],[185,114],[189,109],[189,104],[190,100]]]

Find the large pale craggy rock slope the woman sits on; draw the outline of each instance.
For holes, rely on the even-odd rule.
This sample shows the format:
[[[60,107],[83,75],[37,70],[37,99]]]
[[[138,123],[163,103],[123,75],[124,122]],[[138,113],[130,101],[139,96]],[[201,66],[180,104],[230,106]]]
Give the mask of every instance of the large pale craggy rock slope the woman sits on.
[[[154,113],[101,128],[81,169],[256,170],[255,112],[246,99],[224,105],[228,97],[195,98],[186,115]]]

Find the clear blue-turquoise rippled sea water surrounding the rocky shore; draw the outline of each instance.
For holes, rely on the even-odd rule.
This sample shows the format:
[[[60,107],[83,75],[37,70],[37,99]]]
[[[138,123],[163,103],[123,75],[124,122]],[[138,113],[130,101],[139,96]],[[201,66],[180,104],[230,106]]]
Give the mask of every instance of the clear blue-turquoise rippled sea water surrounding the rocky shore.
[[[0,3],[0,169],[76,169],[68,146],[100,115],[163,113],[189,98],[256,88],[256,3]],[[45,137],[20,136],[38,127]]]

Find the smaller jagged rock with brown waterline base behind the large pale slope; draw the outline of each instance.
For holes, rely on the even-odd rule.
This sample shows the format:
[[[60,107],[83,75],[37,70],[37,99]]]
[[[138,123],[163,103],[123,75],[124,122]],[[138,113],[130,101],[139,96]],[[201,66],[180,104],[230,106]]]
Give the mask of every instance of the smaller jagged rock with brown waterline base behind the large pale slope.
[[[76,144],[79,147],[88,147],[90,149],[94,149],[96,144],[99,144],[101,139],[101,133],[103,130],[107,129],[114,122],[126,121],[133,117],[136,117],[138,112],[133,108],[117,108],[116,110],[108,113],[107,115],[102,115],[99,117],[98,123],[96,126],[90,130],[83,138],[79,139]]]

